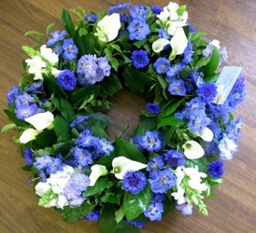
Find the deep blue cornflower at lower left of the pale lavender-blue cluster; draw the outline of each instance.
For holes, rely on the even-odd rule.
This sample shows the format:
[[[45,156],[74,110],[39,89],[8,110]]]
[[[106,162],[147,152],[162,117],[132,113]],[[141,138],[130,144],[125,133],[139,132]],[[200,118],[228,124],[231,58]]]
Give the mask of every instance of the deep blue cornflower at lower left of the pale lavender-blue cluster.
[[[70,70],[64,70],[57,76],[57,82],[64,90],[73,90],[76,87],[77,79]]]

